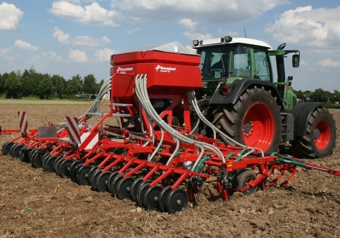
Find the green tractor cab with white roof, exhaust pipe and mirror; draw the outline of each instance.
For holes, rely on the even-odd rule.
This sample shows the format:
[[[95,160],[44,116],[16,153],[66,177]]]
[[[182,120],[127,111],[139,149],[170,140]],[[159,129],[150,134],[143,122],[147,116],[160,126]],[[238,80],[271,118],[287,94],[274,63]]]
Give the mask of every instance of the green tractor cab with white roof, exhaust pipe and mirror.
[[[201,95],[210,97],[221,91],[220,94],[227,96],[236,79],[261,79],[262,82],[258,84],[275,85],[282,100],[282,108],[292,110],[296,105],[296,98],[288,86],[291,85],[293,77],[285,79],[283,59],[286,54],[299,51],[283,50],[284,47],[285,44],[282,44],[277,50],[270,50],[271,46],[263,41],[230,36],[194,40],[193,48],[201,55]],[[276,82],[273,80],[270,56],[276,56]],[[297,67],[298,63],[299,54],[294,54],[293,66]],[[256,80],[253,82],[256,83]]]

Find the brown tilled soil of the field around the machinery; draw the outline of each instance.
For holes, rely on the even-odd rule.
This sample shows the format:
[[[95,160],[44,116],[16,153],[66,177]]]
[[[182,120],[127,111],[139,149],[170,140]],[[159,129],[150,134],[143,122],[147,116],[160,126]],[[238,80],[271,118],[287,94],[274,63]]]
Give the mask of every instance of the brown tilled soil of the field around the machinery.
[[[59,123],[89,105],[0,105],[2,128],[18,128],[17,111],[29,127]],[[340,111],[334,154],[306,160],[340,169]],[[14,135],[0,136],[0,144]],[[144,210],[130,200],[92,191],[0,152],[0,236],[3,237],[340,237],[340,177],[298,169],[283,189],[222,201],[214,183],[203,187],[198,207],[175,215]]]

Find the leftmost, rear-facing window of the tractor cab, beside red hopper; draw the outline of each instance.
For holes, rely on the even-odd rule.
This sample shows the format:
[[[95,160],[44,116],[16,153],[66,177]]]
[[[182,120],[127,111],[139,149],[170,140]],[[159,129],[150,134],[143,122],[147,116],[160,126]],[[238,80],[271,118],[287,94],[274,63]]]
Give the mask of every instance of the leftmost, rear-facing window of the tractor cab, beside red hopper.
[[[201,54],[202,78],[221,78],[228,74],[229,47],[211,47],[198,50]]]

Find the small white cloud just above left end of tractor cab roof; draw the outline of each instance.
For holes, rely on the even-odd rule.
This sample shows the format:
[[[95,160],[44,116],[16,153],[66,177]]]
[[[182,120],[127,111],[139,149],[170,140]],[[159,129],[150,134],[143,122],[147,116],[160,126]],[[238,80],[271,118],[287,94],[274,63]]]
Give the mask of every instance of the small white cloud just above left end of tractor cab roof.
[[[204,40],[212,38],[212,34],[204,32],[204,27],[201,27],[198,22],[194,22],[189,18],[180,19],[178,22],[188,29],[188,31],[185,31],[183,35],[189,40]]]

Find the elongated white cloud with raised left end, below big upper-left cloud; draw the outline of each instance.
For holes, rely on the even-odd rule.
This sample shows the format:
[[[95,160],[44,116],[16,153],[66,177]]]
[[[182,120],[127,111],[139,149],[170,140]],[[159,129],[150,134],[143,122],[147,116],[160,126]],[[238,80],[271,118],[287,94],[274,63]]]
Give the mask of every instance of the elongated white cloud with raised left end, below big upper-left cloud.
[[[73,44],[76,46],[98,47],[101,44],[108,44],[111,40],[107,36],[93,39],[86,35],[70,36],[70,34],[63,32],[58,27],[53,30],[53,37],[60,43]]]

